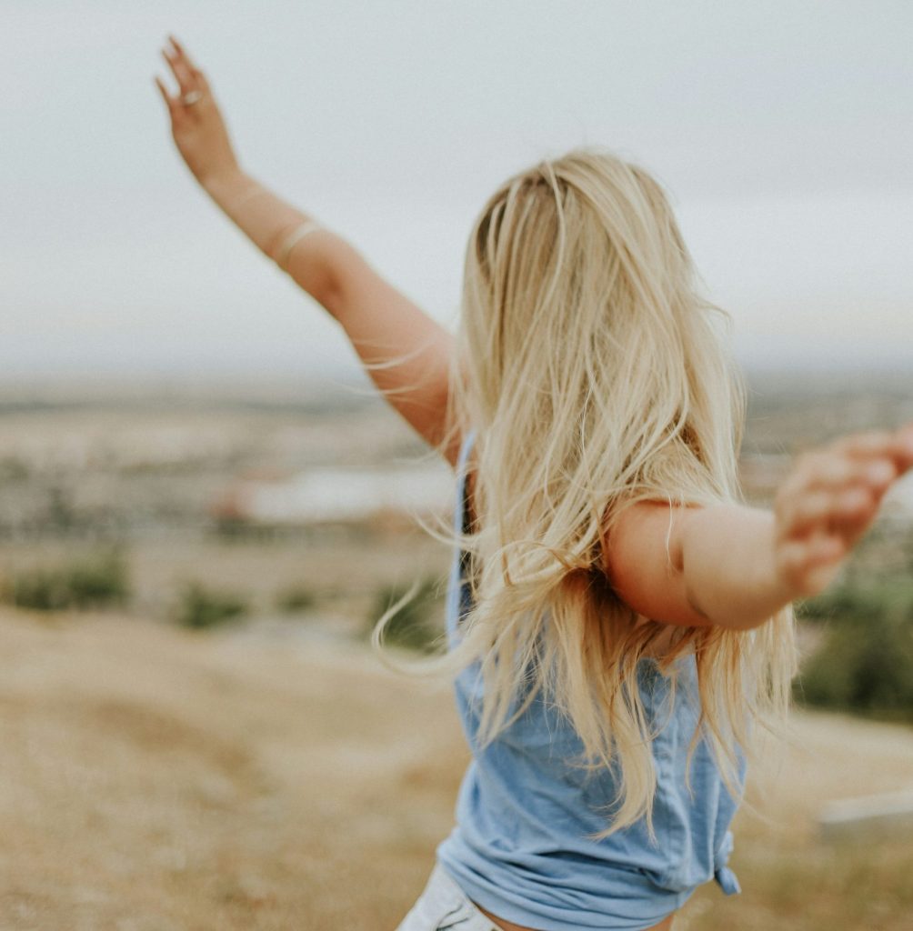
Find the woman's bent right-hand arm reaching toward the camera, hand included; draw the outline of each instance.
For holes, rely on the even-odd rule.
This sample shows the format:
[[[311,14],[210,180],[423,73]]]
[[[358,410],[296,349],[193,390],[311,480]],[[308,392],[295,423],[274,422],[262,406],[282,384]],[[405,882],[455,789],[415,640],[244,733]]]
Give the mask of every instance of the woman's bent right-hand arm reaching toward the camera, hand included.
[[[653,620],[756,627],[830,585],[910,468],[913,424],[801,456],[772,511],[640,502],[611,530],[606,573],[620,599]]]

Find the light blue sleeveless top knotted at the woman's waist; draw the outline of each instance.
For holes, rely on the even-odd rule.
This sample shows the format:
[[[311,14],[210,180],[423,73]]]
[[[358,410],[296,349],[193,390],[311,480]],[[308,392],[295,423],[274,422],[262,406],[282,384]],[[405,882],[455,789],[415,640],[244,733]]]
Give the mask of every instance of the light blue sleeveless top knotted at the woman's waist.
[[[474,433],[460,449],[455,529],[467,529],[466,464]],[[456,552],[446,601],[448,642],[470,607],[465,554]],[[697,724],[685,697],[696,674],[693,657],[679,672],[675,708],[668,679],[644,660],[640,693],[648,720],[660,727],[652,745],[657,789],[655,842],[646,820],[601,841],[615,798],[617,774],[587,774],[579,736],[539,697],[484,749],[478,746],[478,664],[456,677],[456,706],[472,760],[456,802],[456,827],[437,849],[443,868],[487,911],[541,931],[569,928],[642,931],[679,908],[711,879],[727,895],[740,891],[727,867],[729,823],[737,801],[724,786],[706,743],[691,761],[688,746]],[[740,754],[740,776],[744,758]]]

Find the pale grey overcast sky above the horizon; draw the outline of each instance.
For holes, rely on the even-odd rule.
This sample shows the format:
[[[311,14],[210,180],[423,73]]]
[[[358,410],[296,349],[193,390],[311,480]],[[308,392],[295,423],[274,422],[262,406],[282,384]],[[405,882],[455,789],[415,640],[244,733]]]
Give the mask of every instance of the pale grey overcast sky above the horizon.
[[[669,190],[746,367],[911,356],[906,0],[3,0],[7,378],[358,371],[185,168],[171,32],[242,168],[450,328],[487,196],[594,143]]]

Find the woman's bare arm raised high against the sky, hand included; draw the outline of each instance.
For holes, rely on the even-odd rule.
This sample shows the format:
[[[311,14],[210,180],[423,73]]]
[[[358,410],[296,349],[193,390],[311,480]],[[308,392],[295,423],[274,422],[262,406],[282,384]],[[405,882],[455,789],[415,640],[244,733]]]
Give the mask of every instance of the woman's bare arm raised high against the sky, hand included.
[[[453,337],[367,263],[343,237],[240,168],[209,81],[183,47],[162,50],[180,88],[171,134],[194,177],[225,215],[342,326],[377,388],[431,445],[444,423]],[[313,224],[313,225],[311,225]],[[459,438],[445,451],[456,462]]]

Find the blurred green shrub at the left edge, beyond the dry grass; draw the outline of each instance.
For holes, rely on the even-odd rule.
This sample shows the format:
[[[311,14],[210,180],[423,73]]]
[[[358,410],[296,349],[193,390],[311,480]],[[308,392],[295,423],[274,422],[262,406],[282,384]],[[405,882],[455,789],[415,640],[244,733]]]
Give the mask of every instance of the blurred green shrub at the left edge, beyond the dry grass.
[[[36,611],[123,604],[129,599],[127,560],[111,550],[69,565],[23,570],[9,577],[3,594],[11,604]]]

